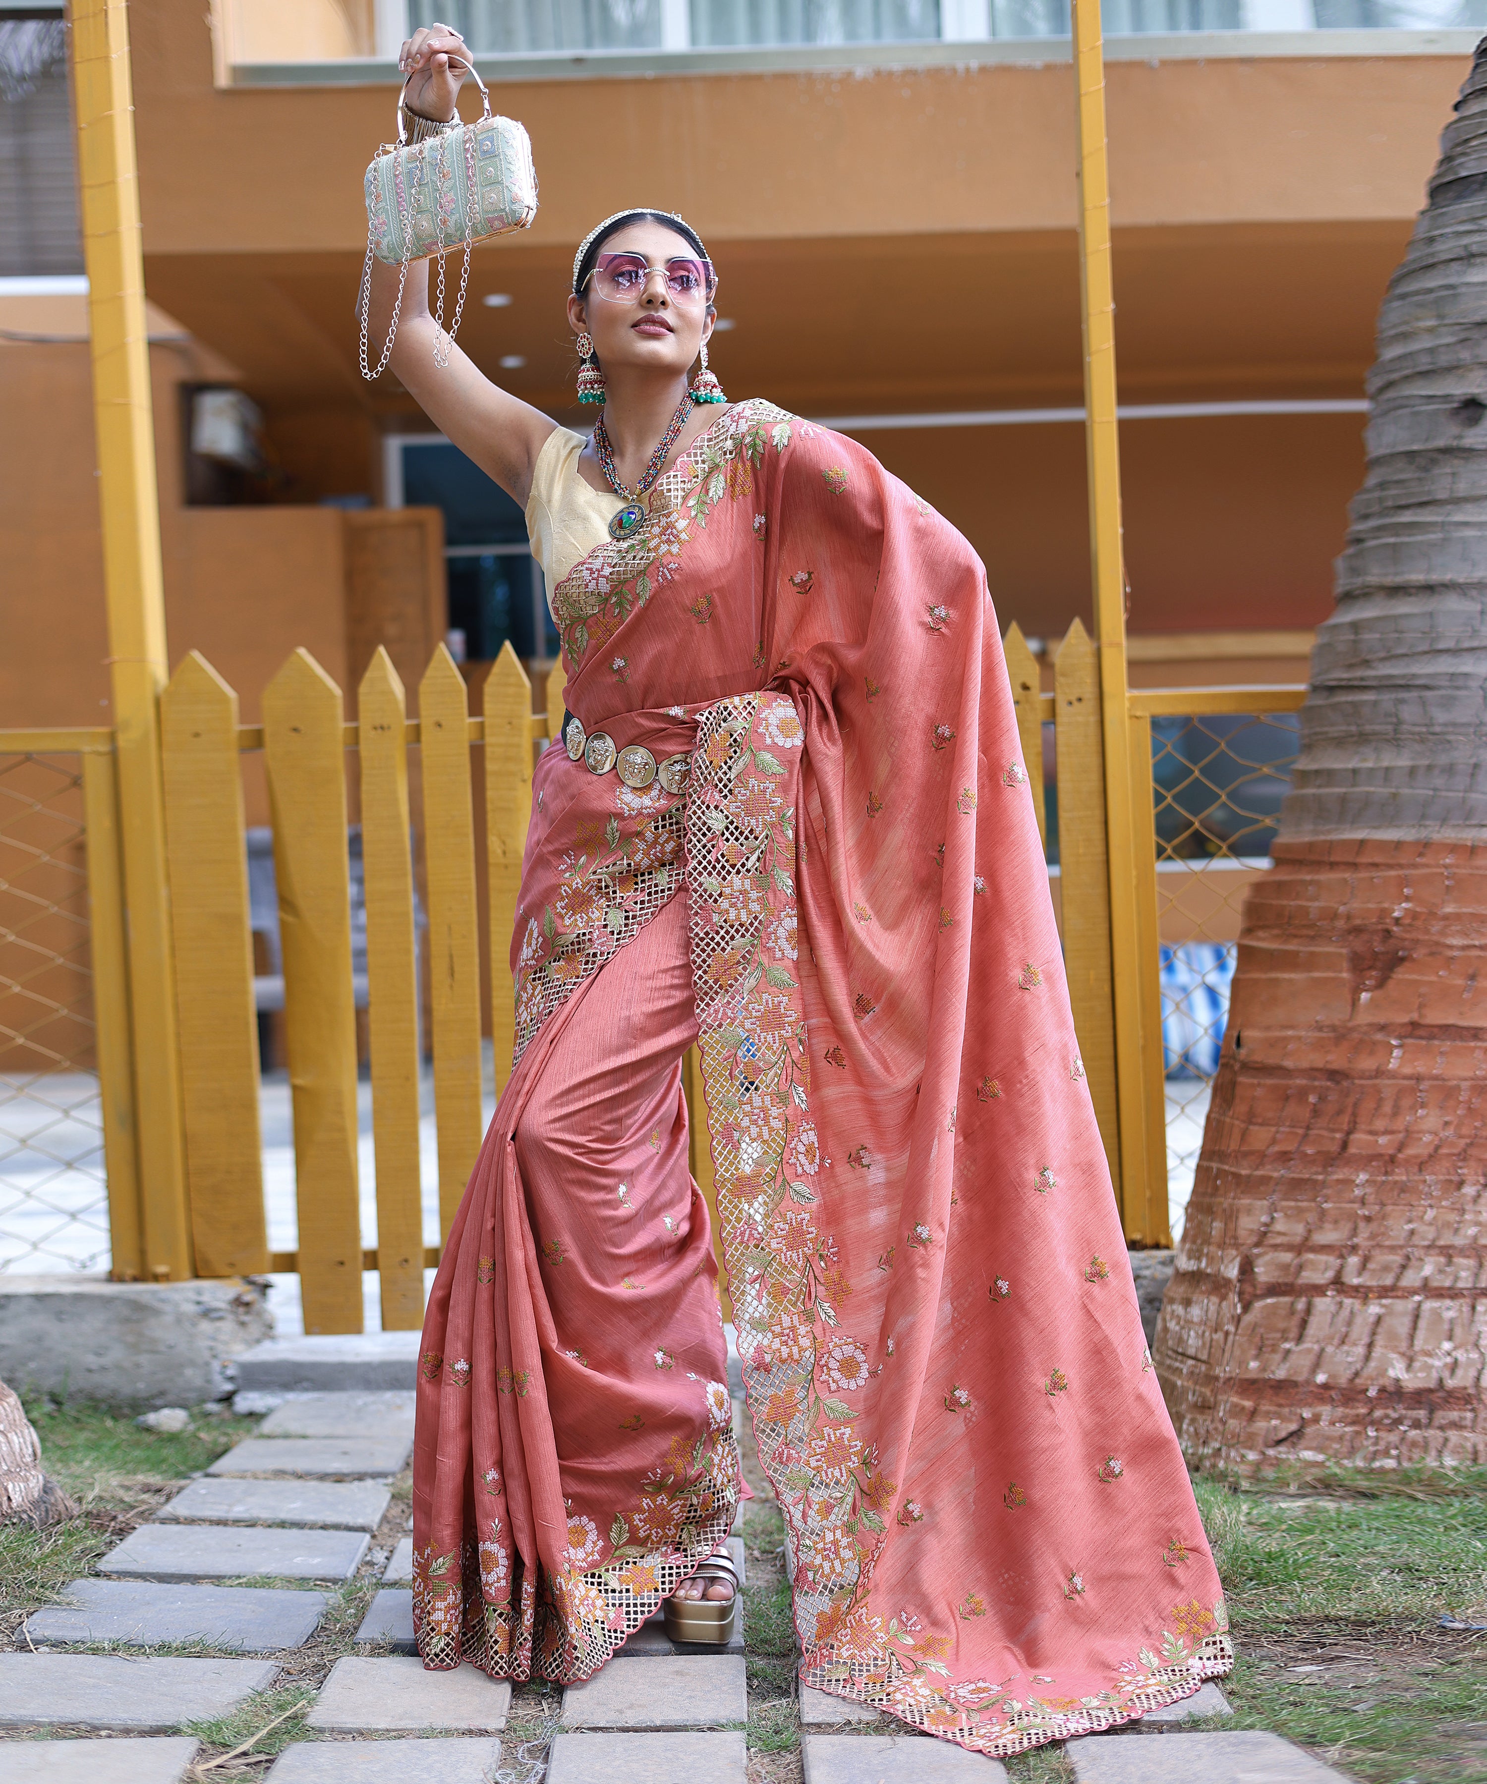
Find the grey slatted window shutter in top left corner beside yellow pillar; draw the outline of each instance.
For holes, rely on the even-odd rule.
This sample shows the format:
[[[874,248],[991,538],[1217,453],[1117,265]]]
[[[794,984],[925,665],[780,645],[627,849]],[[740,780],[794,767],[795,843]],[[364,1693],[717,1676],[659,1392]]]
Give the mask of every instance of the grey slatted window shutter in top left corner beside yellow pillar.
[[[55,18],[0,21],[0,278],[80,271],[68,37],[57,7]]]

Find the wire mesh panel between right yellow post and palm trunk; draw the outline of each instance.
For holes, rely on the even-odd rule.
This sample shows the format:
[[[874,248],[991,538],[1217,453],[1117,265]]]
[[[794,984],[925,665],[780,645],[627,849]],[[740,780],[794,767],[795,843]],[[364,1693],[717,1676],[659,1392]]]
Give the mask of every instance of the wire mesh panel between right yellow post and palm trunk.
[[[1241,910],[1269,867],[1296,747],[1294,712],[1151,721],[1173,1236],[1182,1231],[1203,1147]]]

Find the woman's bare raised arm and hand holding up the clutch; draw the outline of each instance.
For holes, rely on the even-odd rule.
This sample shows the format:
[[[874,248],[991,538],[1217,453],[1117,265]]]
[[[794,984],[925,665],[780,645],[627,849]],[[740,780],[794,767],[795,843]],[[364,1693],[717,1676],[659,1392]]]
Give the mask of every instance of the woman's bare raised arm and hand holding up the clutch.
[[[398,66],[409,82],[405,103],[416,116],[453,118],[464,68],[450,68],[450,57],[468,62],[469,52],[448,25],[427,25],[403,45]],[[450,259],[453,262],[453,255]],[[373,366],[393,326],[398,277],[400,268],[373,259],[366,323]],[[403,387],[428,419],[525,508],[532,467],[555,423],[541,409],[493,384],[453,343],[448,344],[448,364],[434,364],[439,325],[428,310],[427,260],[409,262],[396,330],[387,364]],[[444,359],[444,353],[439,357]]]

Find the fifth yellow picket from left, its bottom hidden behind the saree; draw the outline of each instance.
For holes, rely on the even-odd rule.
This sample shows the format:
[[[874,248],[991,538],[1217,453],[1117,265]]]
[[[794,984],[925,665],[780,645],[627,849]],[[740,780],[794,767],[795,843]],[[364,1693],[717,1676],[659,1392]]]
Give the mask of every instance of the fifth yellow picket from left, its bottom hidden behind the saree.
[[[552,721],[552,714],[548,714]],[[562,714],[559,712],[559,723]],[[486,860],[491,896],[491,1040],[496,1090],[511,1078],[516,992],[511,937],[521,894],[521,855],[532,815],[532,683],[511,648],[486,678]]]

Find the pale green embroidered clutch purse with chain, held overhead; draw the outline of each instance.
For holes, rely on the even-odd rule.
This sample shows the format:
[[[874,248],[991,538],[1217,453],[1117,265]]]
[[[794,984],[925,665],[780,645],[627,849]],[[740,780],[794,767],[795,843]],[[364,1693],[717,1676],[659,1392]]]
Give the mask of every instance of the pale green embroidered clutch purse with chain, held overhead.
[[[453,61],[453,57],[450,59]],[[469,64],[480,87],[482,114],[475,123],[455,121],[452,128],[423,143],[409,143],[403,128],[403,93],[398,95],[398,141],[384,143],[366,169],[366,264],[361,278],[361,371],[377,378],[393,353],[409,260],[437,257],[437,301],[434,321],[434,364],[448,366],[450,344],[464,314],[469,284],[469,250],[477,241],[530,228],[537,214],[537,171],[532,166],[532,139],[514,118],[491,116],[491,95]],[[455,312],[444,332],[444,255],[464,246]],[[398,301],[377,371],[368,369],[366,323],[371,303],[371,259],[400,266]]]

